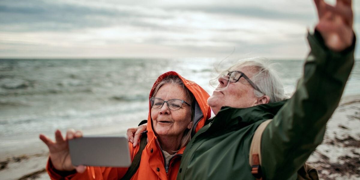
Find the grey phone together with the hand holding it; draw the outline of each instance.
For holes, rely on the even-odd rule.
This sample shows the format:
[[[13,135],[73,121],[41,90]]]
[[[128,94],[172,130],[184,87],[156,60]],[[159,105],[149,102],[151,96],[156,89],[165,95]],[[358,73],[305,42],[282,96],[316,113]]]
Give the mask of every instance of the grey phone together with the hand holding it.
[[[86,166],[129,167],[129,145],[125,137],[82,137],[81,131],[70,129],[63,138],[55,131],[55,141],[40,134],[48,146],[50,161],[59,171],[84,172]]]

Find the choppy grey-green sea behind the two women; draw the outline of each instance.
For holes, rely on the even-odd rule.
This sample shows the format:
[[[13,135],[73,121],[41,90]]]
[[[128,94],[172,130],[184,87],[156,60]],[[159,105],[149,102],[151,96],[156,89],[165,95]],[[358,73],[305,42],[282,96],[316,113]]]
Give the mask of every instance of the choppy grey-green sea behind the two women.
[[[91,134],[122,134],[148,116],[156,78],[176,71],[209,94],[219,69],[235,59],[0,59],[0,158],[40,145],[39,134],[72,128]],[[291,95],[303,60],[269,60]],[[360,60],[344,95],[359,94]],[[329,97],[331,98],[331,97]],[[43,144],[41,144],[43,145]]]

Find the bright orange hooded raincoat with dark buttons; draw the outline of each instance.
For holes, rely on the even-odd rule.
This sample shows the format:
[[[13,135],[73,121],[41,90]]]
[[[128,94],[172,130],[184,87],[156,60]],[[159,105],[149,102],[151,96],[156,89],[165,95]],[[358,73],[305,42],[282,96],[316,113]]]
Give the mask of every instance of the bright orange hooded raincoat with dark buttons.
[[[174,71],[166,72],[159,76],[154,83],[149,98],[152,97],[154,93],[155,86],[163,78],[169,75],[179,76],[180,79],[184,82],[184,85],[193,93],[197,103],[195,107],[195,118],[194,118],[194,128],[193,133],[197,132],[204,126],[205,121],[211,116],[211,109],[207,104],[207,99],[209,94],[202,89],[198,84],[193,81],[189,81],[181,77],[178,73]],[[148,179],[148,180],[175,180],[177,172],[180,167],[180,159],[185,150],[185,147],[181,148],[170,160],[169,169],[166,173],[165,171],[165,161],[162,154],[162,151],[158,145],[157,137],[154,134],[152,129],[152,121],[150,116],[151,106],[149,103],[149,115],[148,115],[148,139],[149,143],[146,145],[143,153],[141,154],[141,162],[138,168],[138,171],[132,176],[131,179]],[[140,143],[140,140],[139,140]],[[134,159],[135,154],[139,150],[139,145],[135,148],[132,147],[132,144],[129,143],[131,159]],[[48,165],[46,166],[51,179],[121,179],[125,175],[127,168],[116,168],[116,167],[93,167],[88,166],[84,173],[76,173],[75,171],[69,173],[59,172],[54,169],[51,161],[49,159]]]

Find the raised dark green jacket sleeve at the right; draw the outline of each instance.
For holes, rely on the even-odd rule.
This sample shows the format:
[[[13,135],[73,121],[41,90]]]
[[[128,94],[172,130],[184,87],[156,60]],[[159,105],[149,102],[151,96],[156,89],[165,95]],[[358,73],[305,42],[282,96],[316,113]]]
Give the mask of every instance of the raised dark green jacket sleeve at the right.
[[[292,179],[321,143],[354,64],[355,37],[352,46],[342,52],[329,50],[317,31],[307,39],[311,51],[303,77],[262,134],[265,179]]]

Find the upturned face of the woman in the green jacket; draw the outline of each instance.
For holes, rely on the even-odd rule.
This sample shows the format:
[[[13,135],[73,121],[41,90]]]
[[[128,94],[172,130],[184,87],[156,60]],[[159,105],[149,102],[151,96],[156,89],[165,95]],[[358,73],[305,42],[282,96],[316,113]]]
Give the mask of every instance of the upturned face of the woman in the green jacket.
[[[249,78],[252,77],[252,73],[247,69],[238,69],[238,71],[242,71]],[[243,77],[238,82],[231,82],[229,85],[226,78],[220,77],[218,80],[219,86],[207,100],[214,114],[217,114],[224,106],[247,108],[257,104],[258,98],[254,94],[254,88]]]

